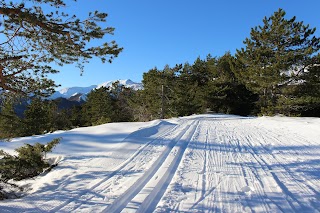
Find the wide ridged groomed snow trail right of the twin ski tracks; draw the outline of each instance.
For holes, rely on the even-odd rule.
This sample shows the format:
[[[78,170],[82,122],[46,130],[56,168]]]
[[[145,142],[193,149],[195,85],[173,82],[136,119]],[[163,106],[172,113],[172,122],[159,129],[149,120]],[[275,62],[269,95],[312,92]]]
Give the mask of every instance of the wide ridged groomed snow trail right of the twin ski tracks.
[[[201,119],[156,212],[320,212],[319,143],[252,121]]]

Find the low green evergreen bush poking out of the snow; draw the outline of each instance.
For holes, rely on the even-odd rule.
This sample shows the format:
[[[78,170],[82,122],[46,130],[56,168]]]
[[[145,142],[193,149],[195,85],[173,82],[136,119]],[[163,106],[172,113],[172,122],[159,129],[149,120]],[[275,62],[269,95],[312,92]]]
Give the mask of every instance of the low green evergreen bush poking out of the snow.
[[[22,180],[39,175],[50,167],[46,162],[46,153],[60,143],[60,138],[53,139],[46,145],[36,143],[26,144],[15,151],[18,155],[10,155],[0,150],[0,179],[7,182],[10,179]]]

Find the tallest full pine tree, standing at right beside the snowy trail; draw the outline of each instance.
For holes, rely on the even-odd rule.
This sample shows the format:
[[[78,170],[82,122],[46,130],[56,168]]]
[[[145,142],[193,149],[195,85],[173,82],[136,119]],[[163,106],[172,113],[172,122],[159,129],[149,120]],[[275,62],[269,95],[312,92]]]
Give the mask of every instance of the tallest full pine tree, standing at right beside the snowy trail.
[[[263,113],[281,113],[277,107],[283,101],[279,99],[295,99],[297,95],[286,94],[288,87],[303,83],[303,76],[310,74],[306,68],[319,63],[314,60],[320,48],[320,39],[313,36],[316,29],[297,22],[296,17],[286,19],[285,15],[279,9],[265,17],[262,26],[251,29],[250,38],[244,41],[246,47],[236,53],[238,74],[249,89],[259,94]]]

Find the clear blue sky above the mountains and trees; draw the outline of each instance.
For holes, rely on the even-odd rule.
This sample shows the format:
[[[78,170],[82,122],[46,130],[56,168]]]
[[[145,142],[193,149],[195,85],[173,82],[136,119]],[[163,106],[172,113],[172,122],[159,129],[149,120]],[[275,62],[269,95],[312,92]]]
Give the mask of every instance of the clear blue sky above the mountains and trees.
[[[287,18],[296,16],[316,27],[320,36],[319,0],[78,0],[69,8],[80,16],[107,12],[107,25],[115,28],[115,35],[106,40],[116,40],[124,50],[112,64],[91,60],[83,76],[75,66],[59,68],[52,78],[62,87],[116,79],[140,82],[154,67],[193,63],[209,53],[234,54],[250,29],[262,25],[262,19],[278,8],[287,12]]]

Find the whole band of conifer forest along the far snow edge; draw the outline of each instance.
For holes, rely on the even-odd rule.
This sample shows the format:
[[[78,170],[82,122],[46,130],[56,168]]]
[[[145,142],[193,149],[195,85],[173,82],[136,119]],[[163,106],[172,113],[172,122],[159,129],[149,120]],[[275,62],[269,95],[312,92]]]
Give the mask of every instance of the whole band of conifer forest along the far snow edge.
[[[212,111],[237,115],[320,116],[320,38],[316,29],[279,9],[251,29],[234,55],[143,74],[143,90],[115,83],[61,109],[58,100],[34,98],[17,114],[17,100],[2,101],[2,138],[107,122],[148,121]],[[18,100],[19,102],[19,100]]]

